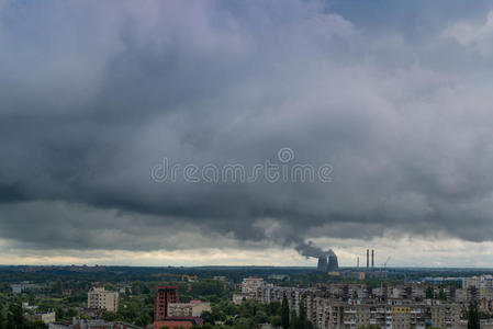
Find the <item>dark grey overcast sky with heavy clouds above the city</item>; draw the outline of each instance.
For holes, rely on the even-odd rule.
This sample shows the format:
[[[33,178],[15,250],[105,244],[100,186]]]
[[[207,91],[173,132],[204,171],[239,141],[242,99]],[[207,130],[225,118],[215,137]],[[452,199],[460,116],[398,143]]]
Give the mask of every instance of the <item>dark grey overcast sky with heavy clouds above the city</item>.
[[[0,0],[0,263],[491,266],[492,89],[490,0]]]

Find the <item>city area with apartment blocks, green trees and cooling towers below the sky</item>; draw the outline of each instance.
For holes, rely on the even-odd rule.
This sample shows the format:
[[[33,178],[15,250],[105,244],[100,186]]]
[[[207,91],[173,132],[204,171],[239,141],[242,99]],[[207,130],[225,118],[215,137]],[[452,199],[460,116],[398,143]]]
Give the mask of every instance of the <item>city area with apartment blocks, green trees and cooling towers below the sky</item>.
[[[493,328],[493,271],[0,266],[0,328]]]

